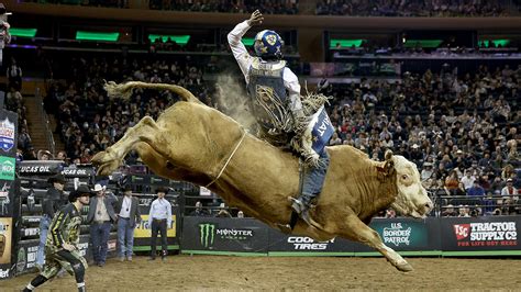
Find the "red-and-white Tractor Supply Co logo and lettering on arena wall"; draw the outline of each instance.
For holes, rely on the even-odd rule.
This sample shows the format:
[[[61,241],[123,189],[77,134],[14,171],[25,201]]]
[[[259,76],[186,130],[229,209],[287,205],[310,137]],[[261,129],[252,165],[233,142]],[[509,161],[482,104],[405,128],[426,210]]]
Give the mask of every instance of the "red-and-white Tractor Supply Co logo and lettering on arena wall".
[[[454,224],[457,246],[517,246],[516,222]]]

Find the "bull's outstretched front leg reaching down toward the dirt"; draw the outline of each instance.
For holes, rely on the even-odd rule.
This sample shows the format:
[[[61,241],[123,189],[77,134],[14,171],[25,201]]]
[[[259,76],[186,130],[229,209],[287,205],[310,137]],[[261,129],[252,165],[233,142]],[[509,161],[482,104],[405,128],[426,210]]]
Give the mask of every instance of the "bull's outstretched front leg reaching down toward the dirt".
[[[341,237],[346,237],[375,248],[402,272],[412,271],[412,266],[392,248],[386,246],[378,233],[363,223],[356,215],[353,214],[347,217],[345,228],[341,232]]]

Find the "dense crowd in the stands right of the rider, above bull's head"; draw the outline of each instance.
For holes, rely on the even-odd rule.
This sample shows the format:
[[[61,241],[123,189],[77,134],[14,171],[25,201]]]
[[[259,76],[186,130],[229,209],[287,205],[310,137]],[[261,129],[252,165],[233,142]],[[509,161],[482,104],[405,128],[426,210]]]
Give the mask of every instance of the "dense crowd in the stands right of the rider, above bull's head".
[[[403,155],[418,165],[425,188],[462,210],[501,194],[510,179],[511,196],[490,199],[489,207],[469,207],[469,214],[519,213],[521,68],[454,71],[406,72],[401,83],[322,82],[321,90],[335,97],[330,116],[337,131],[330,143],[353,145],[380,160],[385,149]],[[458,188],[462,180],[466,183]],[[483,190],[473,189],[475,181]],[[468,200],[451,199],[458,194]]]

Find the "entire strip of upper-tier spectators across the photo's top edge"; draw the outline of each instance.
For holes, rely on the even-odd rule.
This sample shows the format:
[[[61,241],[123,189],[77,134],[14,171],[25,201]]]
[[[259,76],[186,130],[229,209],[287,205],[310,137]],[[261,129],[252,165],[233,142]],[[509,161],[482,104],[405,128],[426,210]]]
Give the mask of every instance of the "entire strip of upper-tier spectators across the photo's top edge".
[[[129,0],[23,0],[23,2],[57,3],[89,7],[130,8]],[[298,14],[298,0],[149,0],[149,9],[251,13]],[[317,15],[350,16],[507,16],[519,14],[518,1],[501,0],[318,0]]]

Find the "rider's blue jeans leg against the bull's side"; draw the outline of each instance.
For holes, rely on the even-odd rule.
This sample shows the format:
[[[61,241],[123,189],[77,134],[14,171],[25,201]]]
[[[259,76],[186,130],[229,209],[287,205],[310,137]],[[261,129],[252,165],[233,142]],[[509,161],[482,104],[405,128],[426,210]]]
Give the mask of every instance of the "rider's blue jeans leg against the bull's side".
[[[320,194],[322,191],[322,186],[324,184],[325,173],[328,172],[328,167],[330,166],[330,157],[325,149],[320,153],[320,160],[322,166],[313,167],[306,171],[302,186],[302,195],[300,200],[309,205],[311,200]]]

